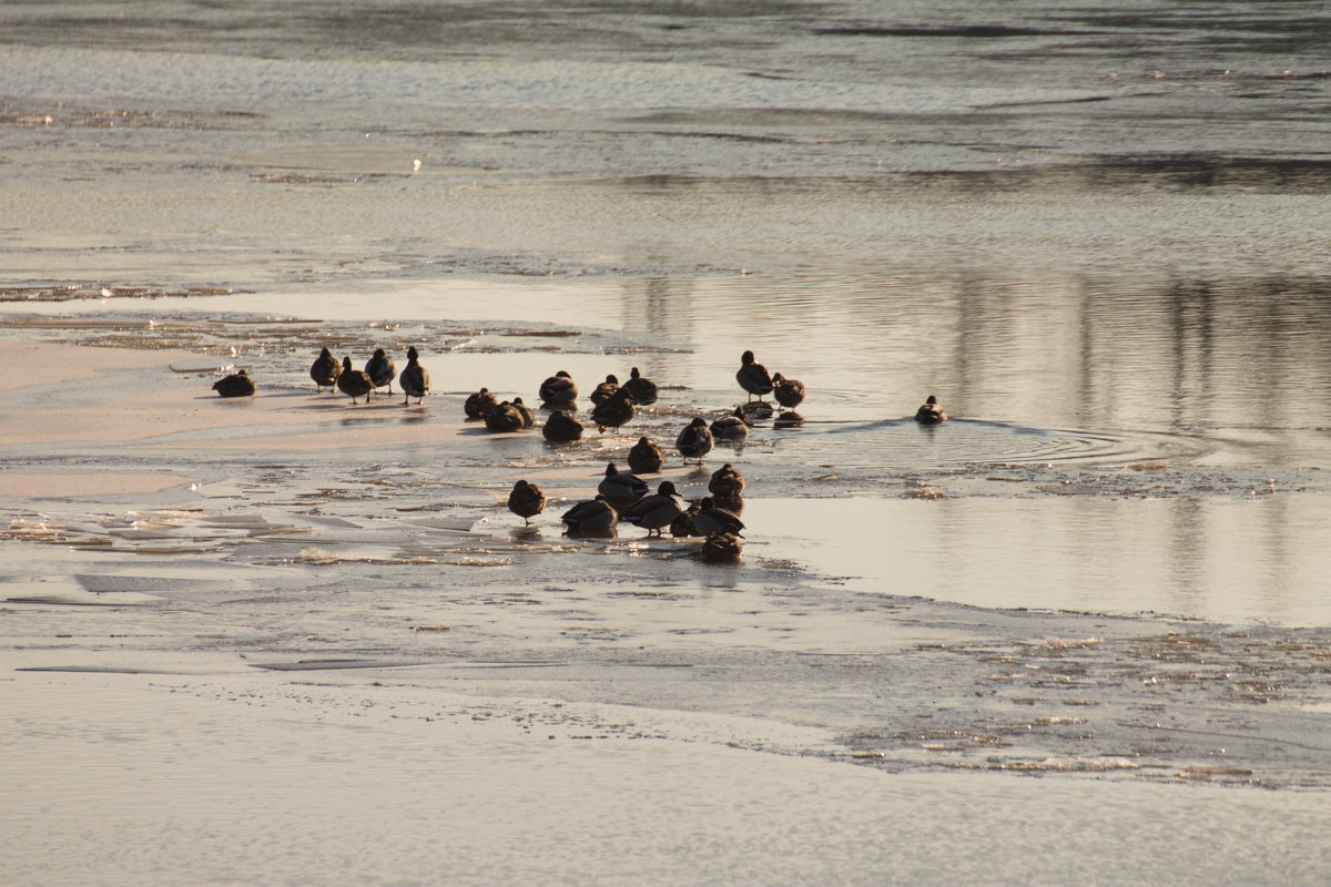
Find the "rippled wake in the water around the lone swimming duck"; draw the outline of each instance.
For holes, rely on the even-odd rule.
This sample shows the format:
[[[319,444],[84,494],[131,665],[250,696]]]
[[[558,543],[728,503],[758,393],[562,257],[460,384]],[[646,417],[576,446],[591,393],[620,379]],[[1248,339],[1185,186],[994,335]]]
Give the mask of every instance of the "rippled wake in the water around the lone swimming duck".
[[[807,424],[783,439],[787,459],[841,467],[952,468],[973,464],[1101,465],[1193,460],[1214,451],[1199,436],[1150,431],[1038,428],[980,419],[920,426],[913,419]]]

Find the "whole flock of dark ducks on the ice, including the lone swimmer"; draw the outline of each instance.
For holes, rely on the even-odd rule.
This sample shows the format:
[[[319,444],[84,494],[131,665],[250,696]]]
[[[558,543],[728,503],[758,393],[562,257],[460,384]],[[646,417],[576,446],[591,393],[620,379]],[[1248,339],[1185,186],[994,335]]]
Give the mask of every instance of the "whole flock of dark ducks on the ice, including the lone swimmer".
[[[398,374],[393,358],[383,348],[374,351],[363,370],[354,368],[349,356],[342,358],[339,363],[327,348],[323,348],[310,366],[310,378],[317,392],[335,388],[350,396],[351,403],[359,403],[359,398],[365,398],[369,403],[370,395],[385,387],[389,395],[393,395],[395,379],[403,394],[403,404],[410,404],[411,398],[421,403],[430,392],[430,372],[421,366],[419,356],[414,346],[407,348],[407,364]],[[771,414],[771,407],[763,400],[765,395],[771,394],[788,410],[804,402],[804,383],[788,379],[780,372],[768,374],[752,351],[745,351],[740,356],[735,380],[748,394],[745,404],[711,423],[701,416],[695,418],[676,436],[675,449],[685,465],[701,467],[717,440],[744,440],[751,427],[748,414],[761,410]],[[252,396],[256,387],[254,380],[241,370],[218,379],[213,390],[222,398],[245,398]],[[630,371],[630,378],[623,383],[616,376],[607,375],[590,395],[591,422],[602,432],[607,428],[618,431],[634,419],[638,407],[655,403],[658,394],[656,383],[644,378],[638,367]],[[542,426],[542,435],[547,440],[568,443],[582,439],[584,426],[572,415],[578,395],[578,384],[563,370],[540,383],[536,396],[542,407],[548,411],[548,418]],[[756,404],[753,398],[757,398]],[[469,419],[484,422],[486,428],[495,432],[522,431],[536,424],[535,412],[522,398],[498,400],[487,388],[469,395],[463,402],[463,412]],[[795,412],[783,412],[777,418],[779,426],[783,419],[785,424],[803,422]],[[916,411],[914,419],[921,424],[937,424],[945,422],[948,415],[937,398],[929,395]],[[614,461],[608,463],[603,479],[596,485],[595,497],[576,503],[560,516],[567,535],[608,537],[618,535],[620,523],[627,523],[646,529],[648,537],[664,536],[667,531],[676,537],[700,536],[704,539],[700,553],[707,561],[724,563],[740,559],[744,523],[739,516],[744,511],[741,493],[745,484],[737,468],[729,463],[721,465],[708,480],[708,495],[696,503],[684,503],[683,493],[672,481],[660,481],[656,492],[652,492],[647,481],[639,477],[656,473],[666,464],[666,453],[656,442],[646,436],[639,438],[627,453],[627,463],[628,471],[620,471]],[[508,511],[530,525],[531,519],[546,509],[547,499],[540,487],[519,480],[512,485],[507,504]]]

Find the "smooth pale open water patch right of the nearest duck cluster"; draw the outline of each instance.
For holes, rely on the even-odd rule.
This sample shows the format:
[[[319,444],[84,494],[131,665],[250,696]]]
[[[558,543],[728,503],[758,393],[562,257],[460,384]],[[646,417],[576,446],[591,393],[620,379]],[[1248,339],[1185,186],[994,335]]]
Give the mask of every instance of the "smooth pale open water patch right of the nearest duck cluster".
[[[775,549],[864,592],[1327,625],[1326,511],[1310,497],[848,497],[755,499],[744,519]]]

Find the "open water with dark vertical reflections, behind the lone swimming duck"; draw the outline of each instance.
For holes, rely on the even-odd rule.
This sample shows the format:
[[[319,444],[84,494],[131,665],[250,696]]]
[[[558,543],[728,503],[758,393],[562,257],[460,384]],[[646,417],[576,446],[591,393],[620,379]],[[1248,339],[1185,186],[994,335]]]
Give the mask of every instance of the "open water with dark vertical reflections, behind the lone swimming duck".
[[[1242,430],[1266,435],[1280,464],[1315,464],[1326,452],[1315,442],[1331,406],[1331,286],[1322,281],[862,269],[631,282],[622,299],[626,328],[703,343],[699,378],[683,383],[725,379],[739,351],[755,347],[836,418],[905,415],[937,394],[958,416]],[[677,374],[675,355],[659,362],[658,375]]]

